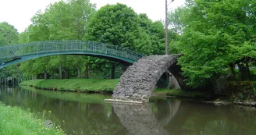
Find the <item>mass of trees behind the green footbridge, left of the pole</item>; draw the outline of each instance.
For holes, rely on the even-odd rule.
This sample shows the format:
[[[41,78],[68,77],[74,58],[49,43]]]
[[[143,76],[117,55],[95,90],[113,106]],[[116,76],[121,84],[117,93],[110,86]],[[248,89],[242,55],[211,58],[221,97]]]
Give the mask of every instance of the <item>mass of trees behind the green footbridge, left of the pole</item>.
[[[38,11],[31,21],[32,24],[10,44],[18,41],[22,44],[34,41],[89,40],[130,48],[147,55],[164,54],[162,22],[153,22],[145,14],[137,15],[123,4],[105,5],[96,11],[89,0],[60,1],[48,5],[44,12]],[[7,41],[7,38],[0,35],[1,44]],[[44,79],[115,78],[124,69],[125,66],[106,59],[59,55],[22,62],[19,68],[22,75],[19,76]],[[16,66],[12,70],[16,71]]]

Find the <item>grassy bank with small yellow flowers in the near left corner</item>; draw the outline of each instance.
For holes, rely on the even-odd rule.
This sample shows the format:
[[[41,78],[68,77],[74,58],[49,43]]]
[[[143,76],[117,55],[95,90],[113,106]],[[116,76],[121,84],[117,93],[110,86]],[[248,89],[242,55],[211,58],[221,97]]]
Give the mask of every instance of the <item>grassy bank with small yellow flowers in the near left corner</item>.
[[[62,135],[59,128],[47,128],[44,120],[18,107],[5,106],[0,102],[0,134],[5,135]]]

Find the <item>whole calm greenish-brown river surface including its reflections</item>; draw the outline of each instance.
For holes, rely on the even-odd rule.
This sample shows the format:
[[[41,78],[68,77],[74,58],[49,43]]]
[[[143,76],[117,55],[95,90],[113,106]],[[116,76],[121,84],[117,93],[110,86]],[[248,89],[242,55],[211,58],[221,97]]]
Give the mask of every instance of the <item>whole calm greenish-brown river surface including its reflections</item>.
[[[32,112],[51,111],[49,119],[69,135],[256,134],[255,108],[166,98],[144,105],[110,104],[105,98],[110,95],[0,86],[0,101]]]

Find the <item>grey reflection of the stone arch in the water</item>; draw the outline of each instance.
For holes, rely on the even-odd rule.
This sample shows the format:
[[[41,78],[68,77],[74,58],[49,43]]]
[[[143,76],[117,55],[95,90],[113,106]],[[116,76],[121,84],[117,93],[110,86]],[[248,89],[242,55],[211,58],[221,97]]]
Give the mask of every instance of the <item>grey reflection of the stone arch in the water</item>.
[[[131,134],[155,135],[169,134],[158,120],[148,104],[120,104],[112,103],[114,112],[120,122]]]

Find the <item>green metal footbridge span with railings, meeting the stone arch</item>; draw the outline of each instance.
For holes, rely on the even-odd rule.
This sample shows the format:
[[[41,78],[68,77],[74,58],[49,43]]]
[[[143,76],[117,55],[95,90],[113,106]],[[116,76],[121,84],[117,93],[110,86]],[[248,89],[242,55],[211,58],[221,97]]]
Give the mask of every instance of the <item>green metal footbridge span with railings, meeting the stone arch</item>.
[[[0,69],[49,55],[91,55],[130,66],[144,55],[116,45],[94,41],[39,41],[0,48]]]

